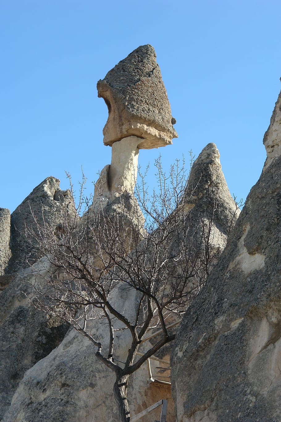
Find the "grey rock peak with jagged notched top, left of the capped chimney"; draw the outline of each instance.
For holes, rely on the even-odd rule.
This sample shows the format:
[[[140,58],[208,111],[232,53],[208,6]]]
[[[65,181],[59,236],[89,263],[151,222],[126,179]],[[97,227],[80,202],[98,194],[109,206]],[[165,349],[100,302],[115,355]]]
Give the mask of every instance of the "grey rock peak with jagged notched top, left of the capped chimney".
[[[36,231],[35,219],[40,226],[45,224],[55,230],[65,215],[74,212],[70,191],[59,188],[59,179],[50,176],[35,187],[11,215],[12,258],[7,271],[19,271],[41,257],[36,244],[31,245],[25,235],[26,227],[32,226]]]

